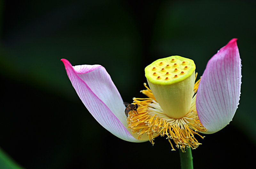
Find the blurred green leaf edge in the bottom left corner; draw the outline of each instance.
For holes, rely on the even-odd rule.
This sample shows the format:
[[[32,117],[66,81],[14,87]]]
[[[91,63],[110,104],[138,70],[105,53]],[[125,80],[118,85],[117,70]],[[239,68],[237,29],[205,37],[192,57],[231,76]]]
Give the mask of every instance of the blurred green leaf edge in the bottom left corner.
[[[0,148],[0,168],[23,169],[2,148]]]

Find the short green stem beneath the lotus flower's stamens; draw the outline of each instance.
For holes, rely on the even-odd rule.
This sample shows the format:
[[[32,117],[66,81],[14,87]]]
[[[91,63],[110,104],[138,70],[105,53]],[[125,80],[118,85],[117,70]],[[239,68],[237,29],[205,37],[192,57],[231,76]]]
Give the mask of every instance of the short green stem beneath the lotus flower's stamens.
[[[181,169],[193,169],[191,148],[187,148],[186,152],[180,150],[180,165]]]

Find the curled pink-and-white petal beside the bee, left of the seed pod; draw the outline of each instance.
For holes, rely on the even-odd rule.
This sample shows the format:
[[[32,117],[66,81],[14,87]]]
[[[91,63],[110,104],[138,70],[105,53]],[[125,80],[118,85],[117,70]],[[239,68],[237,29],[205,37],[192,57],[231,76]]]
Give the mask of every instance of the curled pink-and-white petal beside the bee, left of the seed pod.
[[[77,95],[97,122],[123,140],[142,142],[135,139],[126,128],[123,100],[106,69],[100,65],[72,67],[68,60],[61,61]]]

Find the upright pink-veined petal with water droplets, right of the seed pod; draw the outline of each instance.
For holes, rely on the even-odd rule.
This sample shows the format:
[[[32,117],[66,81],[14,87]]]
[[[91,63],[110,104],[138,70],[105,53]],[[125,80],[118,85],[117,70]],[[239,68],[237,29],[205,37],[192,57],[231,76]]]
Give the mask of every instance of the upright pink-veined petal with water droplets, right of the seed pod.
[[[196,110],[207,134],[228,125],[239,104],[242,75],[236,40],[230,40],[208,61],[197,90]]]

